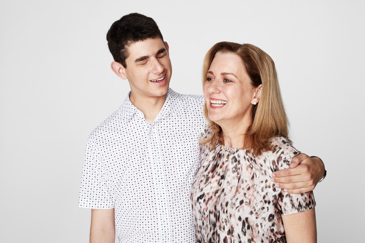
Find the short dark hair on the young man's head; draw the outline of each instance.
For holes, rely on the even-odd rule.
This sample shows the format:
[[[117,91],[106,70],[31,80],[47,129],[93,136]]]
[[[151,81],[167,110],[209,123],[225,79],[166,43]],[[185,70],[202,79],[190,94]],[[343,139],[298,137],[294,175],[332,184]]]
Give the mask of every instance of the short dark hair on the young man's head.
[[[107,33],[108,47],[116,62],[127,67],[128,49],[132,43],[149,38],[161,38],[156,22],[140,13],[130,13],[115,21]]]

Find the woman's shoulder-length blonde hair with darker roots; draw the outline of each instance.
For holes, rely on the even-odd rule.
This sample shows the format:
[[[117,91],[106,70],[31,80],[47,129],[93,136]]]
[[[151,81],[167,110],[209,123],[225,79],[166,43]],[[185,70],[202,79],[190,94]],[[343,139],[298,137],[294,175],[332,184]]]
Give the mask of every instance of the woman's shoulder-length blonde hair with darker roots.
[[[244,148],[252,148],[254,154],[272,150],[270,139],[282,136],[289,140],[289,122],[281,98],[277,80],[276,68],[273,60],[266,52],[251,44],[233,42],[219,42],[207,52],[203,63],[203,86],[207,81],[207,74],[217,53],[233,53],[239,56],[253,87],[262,84],[260,102],[253,108],[252,123],[246,131],[243,141]],[[211,137],[202,143],[211,143],[213,148],[217,142],[224,144],[222,129],[208,118],[207,104],[204,103],[204,115],[213,130]],[[290,141],[290,140],[289,140]]]

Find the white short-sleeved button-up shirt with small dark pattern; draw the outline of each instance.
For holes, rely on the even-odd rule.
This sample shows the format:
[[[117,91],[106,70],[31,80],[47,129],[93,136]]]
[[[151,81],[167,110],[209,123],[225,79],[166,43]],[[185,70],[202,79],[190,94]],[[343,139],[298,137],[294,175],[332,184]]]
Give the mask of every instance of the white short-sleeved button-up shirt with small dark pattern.
[[[189,195],[203,102],[169,89],[149,124],[128,95],[90,134],[79,207],[114,208],[119,242],[195,242]]]

